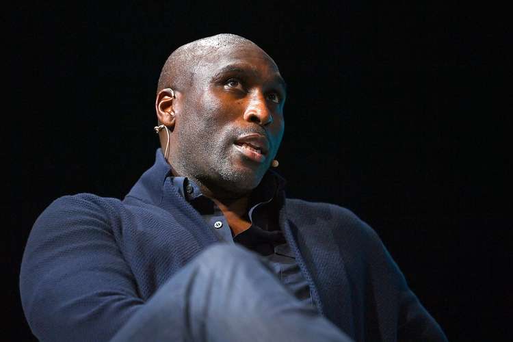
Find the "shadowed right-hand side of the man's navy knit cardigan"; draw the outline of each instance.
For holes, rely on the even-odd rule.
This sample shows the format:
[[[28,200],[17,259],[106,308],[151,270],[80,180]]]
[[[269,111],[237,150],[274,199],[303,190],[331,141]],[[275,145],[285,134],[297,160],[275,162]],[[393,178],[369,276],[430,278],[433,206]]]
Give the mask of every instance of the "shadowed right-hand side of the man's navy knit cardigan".
[[[376,231],[352,211],[287,200],[287,212],[324,313],[339,328],[356,340],[447,341]]]

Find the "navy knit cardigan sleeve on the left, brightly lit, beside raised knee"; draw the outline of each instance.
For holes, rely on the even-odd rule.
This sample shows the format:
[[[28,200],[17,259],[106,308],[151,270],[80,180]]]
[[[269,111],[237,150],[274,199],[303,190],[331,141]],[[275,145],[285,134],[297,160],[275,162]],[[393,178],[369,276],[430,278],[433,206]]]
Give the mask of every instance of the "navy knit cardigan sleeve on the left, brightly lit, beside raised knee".
[[[98,202],[64,196],[32,228],[20,289],[40,341],[107,341],[143,304]]]

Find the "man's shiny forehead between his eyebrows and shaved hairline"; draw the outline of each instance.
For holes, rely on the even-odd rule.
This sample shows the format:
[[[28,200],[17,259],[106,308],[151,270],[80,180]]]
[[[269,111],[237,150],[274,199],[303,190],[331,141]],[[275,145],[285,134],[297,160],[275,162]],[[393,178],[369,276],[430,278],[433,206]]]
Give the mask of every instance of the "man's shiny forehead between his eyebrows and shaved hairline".
[[[237,44],[207,53],[196,66],[196,75],[198,81],[209,81],[211,77],[230,70],[245,71],[258,77],[282,81],[280,70],[274,60],[253,44]]]

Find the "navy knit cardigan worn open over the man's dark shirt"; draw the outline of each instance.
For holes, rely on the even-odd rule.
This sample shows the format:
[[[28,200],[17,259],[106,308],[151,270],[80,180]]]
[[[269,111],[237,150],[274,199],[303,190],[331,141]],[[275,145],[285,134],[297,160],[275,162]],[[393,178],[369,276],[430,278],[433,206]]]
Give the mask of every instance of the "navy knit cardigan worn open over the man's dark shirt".
[[[185,263],[218,242],[155,165],[124,198],[55,200],[21,265],[25,316],[42,341],[107,341]],[[279,224],[319,312],[355,341],[446,341],[378,235],[347,209],[277,198]]]

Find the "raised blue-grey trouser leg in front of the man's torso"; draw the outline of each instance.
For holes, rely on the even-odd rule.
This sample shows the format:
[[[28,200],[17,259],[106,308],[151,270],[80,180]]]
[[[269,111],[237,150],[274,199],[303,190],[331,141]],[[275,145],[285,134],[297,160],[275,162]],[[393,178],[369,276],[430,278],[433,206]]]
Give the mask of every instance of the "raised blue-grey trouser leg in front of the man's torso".
[[[113,341],[350,341],[257,254],[216,244],[174,274]]]

